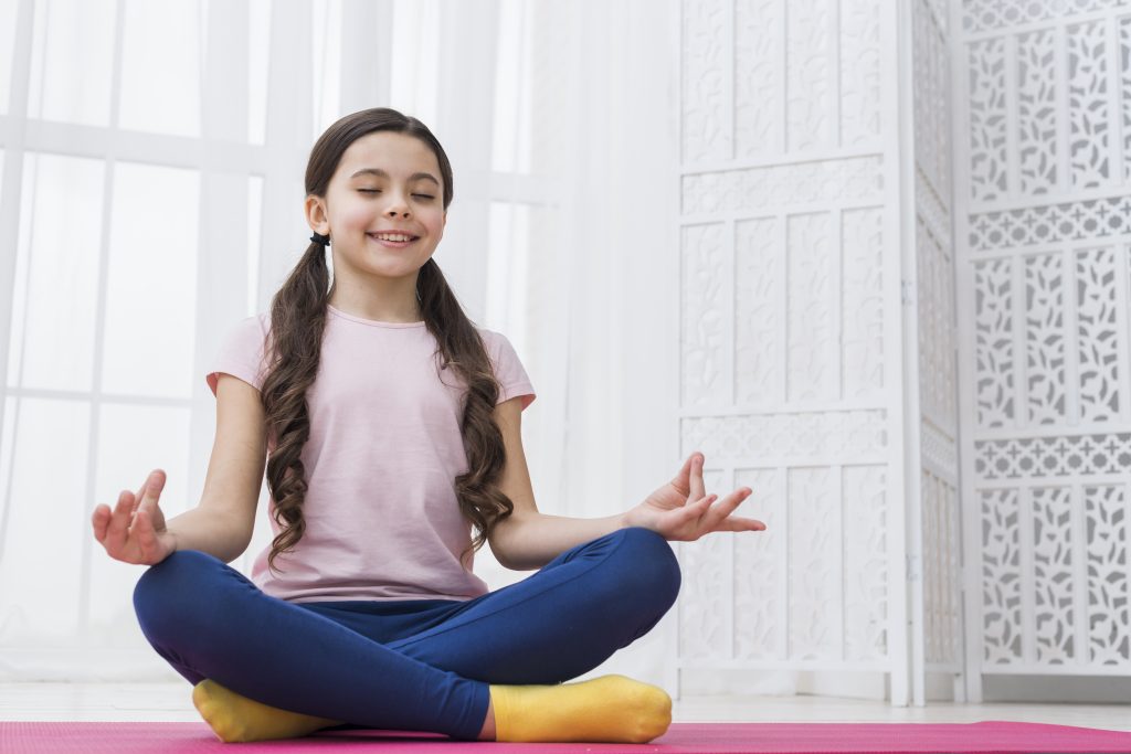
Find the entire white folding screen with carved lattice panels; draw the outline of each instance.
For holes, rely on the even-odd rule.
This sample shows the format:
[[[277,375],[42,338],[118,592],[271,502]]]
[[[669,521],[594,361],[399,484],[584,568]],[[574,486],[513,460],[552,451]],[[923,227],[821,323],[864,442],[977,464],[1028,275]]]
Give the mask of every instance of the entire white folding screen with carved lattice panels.
[[[1131,674],[1129,6],[681,3],[684,690]]]

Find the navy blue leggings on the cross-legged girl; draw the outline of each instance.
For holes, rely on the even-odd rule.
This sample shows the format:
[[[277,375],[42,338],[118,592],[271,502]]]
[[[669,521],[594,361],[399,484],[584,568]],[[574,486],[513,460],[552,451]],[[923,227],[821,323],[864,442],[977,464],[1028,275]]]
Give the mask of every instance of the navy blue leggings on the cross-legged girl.
[[[138,580],[146,639],[192,684],[204,678],[285,710],[383,730],[474,740],[489,684],[556,684],[656,625],[680,566],[639,527],[566,551],[475,599],[290,603],[219,558],[178,551]]]

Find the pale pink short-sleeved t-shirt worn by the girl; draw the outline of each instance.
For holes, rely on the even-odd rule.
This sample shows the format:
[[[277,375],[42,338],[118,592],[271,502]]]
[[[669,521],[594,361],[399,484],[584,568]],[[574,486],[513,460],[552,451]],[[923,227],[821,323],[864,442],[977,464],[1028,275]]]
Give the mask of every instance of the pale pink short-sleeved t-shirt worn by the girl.
[[[302,450],[307,530],[293,552],[251,580],[296,603],[454,599],[489,591],[459,554],[472,526],[459,510],[456,476],[467,471],[460,402],[464,388],[439,371],[437,341],[423,322],[377,322],[327,305],[318,376],[307,391],[310,439]],[[230,331],[207,374],[213,395],[225,372],[261,389],[269,312]],[[500,383],[499,402],[534,388],[506,336],[476,328]],[[269,448],[268,450],[271,450]],[[275,501],[269,501],[271,530]]]

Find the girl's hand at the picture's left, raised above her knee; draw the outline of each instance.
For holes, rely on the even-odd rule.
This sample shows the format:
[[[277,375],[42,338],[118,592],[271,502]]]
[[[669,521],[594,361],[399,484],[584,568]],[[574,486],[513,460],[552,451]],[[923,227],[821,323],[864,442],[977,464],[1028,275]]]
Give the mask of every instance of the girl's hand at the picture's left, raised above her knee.
[[[176,538],[165,529],[165,514],[157,505],[164,486],[165,473],[155,469],[136,495],[123,489],[113,511],[105,503],[95,506],[94,537],[111,557],[153,565],[176,549]]]

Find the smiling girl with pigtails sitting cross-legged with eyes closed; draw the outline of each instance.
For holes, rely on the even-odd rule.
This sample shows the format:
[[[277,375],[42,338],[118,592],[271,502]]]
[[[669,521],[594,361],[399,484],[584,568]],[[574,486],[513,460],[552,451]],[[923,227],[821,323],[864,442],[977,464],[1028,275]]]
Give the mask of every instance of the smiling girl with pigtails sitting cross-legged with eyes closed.
[[[432,260],[452,199],[435,137],[395,110],[347,115],[314,145],[305,189],[311,244],[270,317],[235,326],[207,375],[217,424],[200,504],[166,525],[156,469],[94,511],[110,556],[152,565],[133,592],[146,638],[226,742],[339,725],[662,735],[663,690],[562,682],[675,601],[667,540],[765,529],[731,517],[750,489],[711,506],[693,453],[622,514],[539,513],[520,434],[534,389]],[[226,563],[250,543],[265,463],[276,536],[249,580]],[[472,570],[484,543],[507,567],[541,570],[491,592]]]

